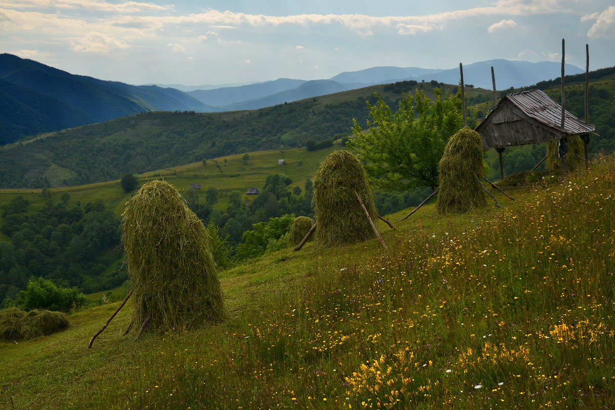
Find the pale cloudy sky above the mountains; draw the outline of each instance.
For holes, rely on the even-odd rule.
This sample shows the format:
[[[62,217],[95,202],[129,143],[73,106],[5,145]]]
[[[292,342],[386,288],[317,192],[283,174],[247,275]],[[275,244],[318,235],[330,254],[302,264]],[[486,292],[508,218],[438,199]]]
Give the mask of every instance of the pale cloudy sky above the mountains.
[[[505,58],[615,65],[613,0],[0,0],[0,52],[129,84],[327,79]]]

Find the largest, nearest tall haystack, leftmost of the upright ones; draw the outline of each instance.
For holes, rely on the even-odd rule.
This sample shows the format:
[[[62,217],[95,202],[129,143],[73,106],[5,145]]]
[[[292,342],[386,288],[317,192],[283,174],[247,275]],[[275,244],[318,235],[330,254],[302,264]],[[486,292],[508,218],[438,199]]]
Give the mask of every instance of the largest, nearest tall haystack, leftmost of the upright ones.
[[[207,230],[175,188],[150,181],[124,212],[122,242],[133,283],[132,324],[192,328],[223,316]]]

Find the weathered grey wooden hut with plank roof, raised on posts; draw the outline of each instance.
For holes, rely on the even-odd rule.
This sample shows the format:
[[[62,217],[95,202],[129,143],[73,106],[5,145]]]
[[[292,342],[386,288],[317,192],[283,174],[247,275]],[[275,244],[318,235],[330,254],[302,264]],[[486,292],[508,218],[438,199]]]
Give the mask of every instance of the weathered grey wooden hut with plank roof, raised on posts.
[[[483,148],[502,149],[588,135],[595,128],[568,111],[561,128],[560,104],[541,90],[530,90],[505,95],[475,131],[483,139]]]

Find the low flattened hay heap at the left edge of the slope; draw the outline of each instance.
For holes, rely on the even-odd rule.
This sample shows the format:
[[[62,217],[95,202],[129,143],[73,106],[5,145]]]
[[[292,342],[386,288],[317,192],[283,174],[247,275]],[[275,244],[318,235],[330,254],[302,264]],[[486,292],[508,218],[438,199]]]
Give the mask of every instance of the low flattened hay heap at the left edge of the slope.
[[[63,312],[49,310],[25,310],[17,307],[0,310],[0,340],[25,341],[47,336],[68,326]]]

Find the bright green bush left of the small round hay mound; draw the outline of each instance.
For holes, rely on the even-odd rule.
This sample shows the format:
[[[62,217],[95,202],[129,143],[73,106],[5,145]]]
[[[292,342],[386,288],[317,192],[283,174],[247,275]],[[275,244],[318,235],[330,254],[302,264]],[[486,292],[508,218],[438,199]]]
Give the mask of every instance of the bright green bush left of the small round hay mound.
[[[237,245],[237,259],[256,258],[265,253],[269,242],[279,240],[290,231],[295,220],[295,215],[284,215],[279,218],[271,218],[268,223],[260,222],[252,225],[252,231],[246,231],[241,237],[241,243]],[[272,245],[273,246],[281,246]]]

